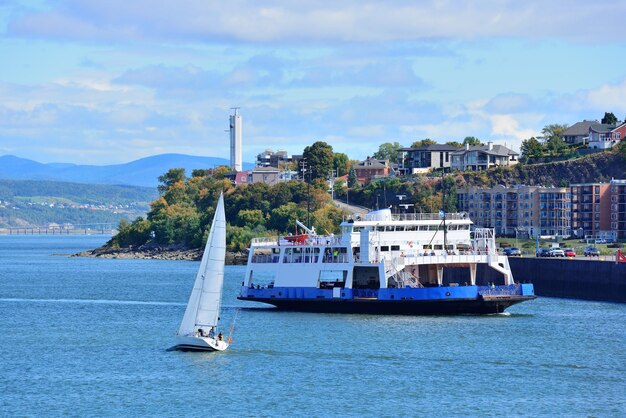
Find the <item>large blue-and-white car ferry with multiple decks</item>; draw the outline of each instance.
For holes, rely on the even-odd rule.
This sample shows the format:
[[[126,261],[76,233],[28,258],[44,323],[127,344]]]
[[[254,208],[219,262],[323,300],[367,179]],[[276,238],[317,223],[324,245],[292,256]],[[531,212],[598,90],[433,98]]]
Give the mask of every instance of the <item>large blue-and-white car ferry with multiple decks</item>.
[[[464,213],[371,211],[341,235],[252,241],[238,299],[281,310],[403,314],[500,313],[535,299],[496,250],[494,230]]]

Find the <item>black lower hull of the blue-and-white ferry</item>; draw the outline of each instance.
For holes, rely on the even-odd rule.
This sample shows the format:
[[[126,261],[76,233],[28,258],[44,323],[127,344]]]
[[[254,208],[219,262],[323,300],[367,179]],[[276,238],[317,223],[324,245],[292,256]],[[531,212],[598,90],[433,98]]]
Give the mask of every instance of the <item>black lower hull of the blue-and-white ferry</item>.
[[[239,297],[241,300],[263,302],[284,311],[354,313],[372,315],[479,315],[502,313],[509,306],[535,296],[500,299],[463,300],[345,300],[345,299],[274,299]]]

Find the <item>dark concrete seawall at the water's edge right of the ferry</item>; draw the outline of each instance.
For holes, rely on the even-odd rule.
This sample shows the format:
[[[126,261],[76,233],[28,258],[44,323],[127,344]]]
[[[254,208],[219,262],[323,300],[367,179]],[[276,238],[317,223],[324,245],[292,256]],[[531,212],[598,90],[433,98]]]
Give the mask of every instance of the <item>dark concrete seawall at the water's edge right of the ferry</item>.
[[[509,257],[515,281],[538,296],[626,302],[626,263]]]

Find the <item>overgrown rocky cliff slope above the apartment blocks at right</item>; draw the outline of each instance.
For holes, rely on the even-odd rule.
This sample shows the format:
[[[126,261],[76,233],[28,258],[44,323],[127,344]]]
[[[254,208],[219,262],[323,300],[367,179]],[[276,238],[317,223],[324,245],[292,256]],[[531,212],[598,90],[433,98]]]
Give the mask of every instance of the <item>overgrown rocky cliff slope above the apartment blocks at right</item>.
[[[518,164],[489,172],[465,173],[467,185],[567,186],[574,183],[609,182],[626,179],[626,160],[615,153],[601,153],[570,161],[546,164]]]

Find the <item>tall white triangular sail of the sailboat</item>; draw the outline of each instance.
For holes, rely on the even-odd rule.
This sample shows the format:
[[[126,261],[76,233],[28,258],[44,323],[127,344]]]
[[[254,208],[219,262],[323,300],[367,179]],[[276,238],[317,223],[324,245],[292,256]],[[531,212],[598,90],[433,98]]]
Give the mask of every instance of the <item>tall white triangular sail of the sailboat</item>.
[[[224,284],[226,258],[226,216],[224,195],[221,194],[215,209],[211,231],[193,284],[185,315],[178,335],[193,334],[197,328],[217,326]]]

